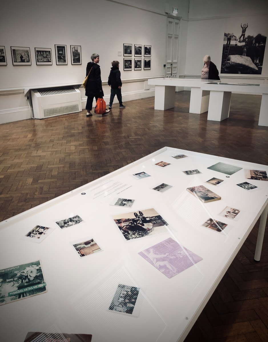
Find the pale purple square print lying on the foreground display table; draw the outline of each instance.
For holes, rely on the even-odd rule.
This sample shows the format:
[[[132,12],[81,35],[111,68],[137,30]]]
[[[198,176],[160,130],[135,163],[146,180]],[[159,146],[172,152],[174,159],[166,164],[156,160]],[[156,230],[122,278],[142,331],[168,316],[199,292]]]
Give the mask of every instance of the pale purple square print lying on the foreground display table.
[[[138,254],[168,278],[174,277],[203,260],[171,237]]]

